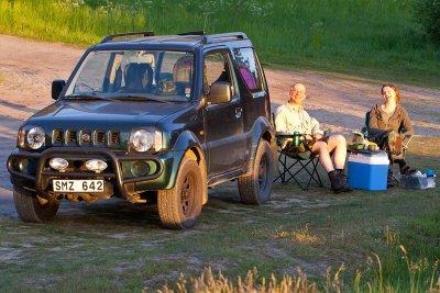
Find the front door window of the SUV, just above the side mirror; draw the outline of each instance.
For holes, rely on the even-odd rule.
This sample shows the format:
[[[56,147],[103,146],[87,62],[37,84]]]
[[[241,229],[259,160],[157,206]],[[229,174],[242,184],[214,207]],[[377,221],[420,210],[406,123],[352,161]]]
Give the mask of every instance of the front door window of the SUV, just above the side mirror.
[[[205,55],[204,60],[204,93],[208,94],[212,83],[229,82],[232,97],[235,95],[235,79],[231,72],[231,61],[227,53],[212,52]]]

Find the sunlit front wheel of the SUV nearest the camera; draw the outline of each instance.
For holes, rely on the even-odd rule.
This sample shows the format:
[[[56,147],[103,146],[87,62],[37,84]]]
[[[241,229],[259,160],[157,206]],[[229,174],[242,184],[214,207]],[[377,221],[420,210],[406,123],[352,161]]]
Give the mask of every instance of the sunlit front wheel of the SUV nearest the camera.
[[[184,157],[176,184],[157,194],[158,216],[162,224],[172,229],[190,228],[201,213],[204,195],[202,173],[197,161]]]

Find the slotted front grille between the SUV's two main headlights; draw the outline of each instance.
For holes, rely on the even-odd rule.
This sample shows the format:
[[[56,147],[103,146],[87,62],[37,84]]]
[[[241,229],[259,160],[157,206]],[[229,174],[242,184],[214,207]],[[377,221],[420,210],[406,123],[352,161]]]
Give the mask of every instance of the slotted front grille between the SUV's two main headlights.
[[[119,131],[54,129],[53,146],[118,146],[121,144]]]

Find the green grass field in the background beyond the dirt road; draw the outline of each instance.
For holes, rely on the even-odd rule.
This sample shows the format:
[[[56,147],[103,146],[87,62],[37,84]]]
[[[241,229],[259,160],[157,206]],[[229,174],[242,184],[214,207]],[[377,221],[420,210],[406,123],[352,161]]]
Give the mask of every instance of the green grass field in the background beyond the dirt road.
[[[266,66],[439,88],[440,49],[415,1],[0,0],[0,33],[90,45],[127,31],[243,31]]]

